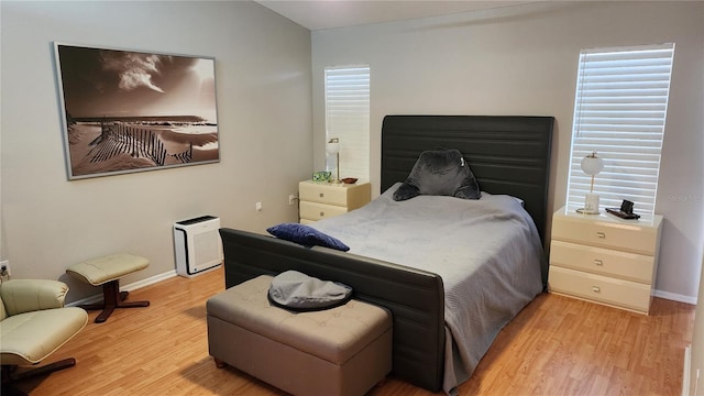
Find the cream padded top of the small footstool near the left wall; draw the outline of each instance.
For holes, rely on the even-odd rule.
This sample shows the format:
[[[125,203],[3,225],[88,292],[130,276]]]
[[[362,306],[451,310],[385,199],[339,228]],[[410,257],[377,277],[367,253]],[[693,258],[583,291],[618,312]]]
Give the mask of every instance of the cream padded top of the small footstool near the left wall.
[[[133,272],[144,270],[150,261],[133,254],[120,253],[87,260],[69,266],[66,272],[78,279],[99,286]]]

